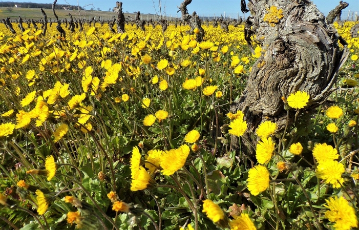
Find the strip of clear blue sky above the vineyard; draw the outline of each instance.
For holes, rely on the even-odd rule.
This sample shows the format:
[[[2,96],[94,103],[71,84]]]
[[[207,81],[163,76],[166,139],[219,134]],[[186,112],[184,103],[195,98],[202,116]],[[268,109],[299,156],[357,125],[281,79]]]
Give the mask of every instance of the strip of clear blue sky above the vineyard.
[[[115,6],[117,0],[104,1],[104,0],[78,0],[79,5],[81,7],[87,6],[85,9],[94,9],[100,8],[103,11],[108,11],[109,8],[113,8]],[[121,0],[118,0],[121,1]],[[181,4],[183,0],[161,0],[162,2],[162,14],[164,12],[166,15],[170,16],[180,16],[180,12],[177,13],[177,6]],[[314,4],[318,7],[322,13],[327,15],[330,10],[334,9],[335,6],[339,4],[340,0],[312,0]],[[0,2],[12,2],[3,0]],[[16,2],[22,2],[20,0]],[[33,3],[53,3],[53,0],[26,0],[24,2],[33,2]],[[248,2],[248,0],[247,0]],[[349,3],[349,7],[344,10],[342,13],[342,17],[345,18],[348,16],[348,11],[358,12],[359,11],[359,0],[346,0],[345,2]],[[58,4],[70,4],[77,5],[77,1],[71,0],[58,0]],[[123,11],[126,12],[137,12],[141,13],[152,13],[156,14],[156,11],[159,12],[159,0],[122,0],[123,3]],[[191,4],[188,5],[188,11],[192,13],[196,11],[200,16],[220,16],[221,14],[231,17],[237,17],[238,13],[240,16],[243,14],[240,11],[240,0],[193,0]]]

